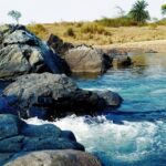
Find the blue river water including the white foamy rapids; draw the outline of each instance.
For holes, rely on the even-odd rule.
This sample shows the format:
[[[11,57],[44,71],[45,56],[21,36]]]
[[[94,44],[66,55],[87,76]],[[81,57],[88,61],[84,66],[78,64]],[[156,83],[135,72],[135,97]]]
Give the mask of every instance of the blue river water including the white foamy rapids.
[[[94,80],[76,80],[82,89],[120,93],[123,105],[113,113],[96,117],[73,115],[53,124],[73,131],[86,151],[105,166],[165,166],[166,55],[157,56],[144,56],[145,66],[111,70]],[[31,118],[28,123],[48,122]]]

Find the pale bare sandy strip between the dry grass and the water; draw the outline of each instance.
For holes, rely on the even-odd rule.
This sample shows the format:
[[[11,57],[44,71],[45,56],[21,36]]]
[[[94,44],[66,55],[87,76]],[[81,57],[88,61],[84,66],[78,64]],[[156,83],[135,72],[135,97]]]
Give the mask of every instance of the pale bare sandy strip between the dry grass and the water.
[[[117,43],[111,45],[96,45],[95,48],[102,49],[104,51],[116,49],[118,51],[126,52],[166,52],[166,40],[154,40],[154,41],[142,41],[142,42],[128,42],[128,43]]]

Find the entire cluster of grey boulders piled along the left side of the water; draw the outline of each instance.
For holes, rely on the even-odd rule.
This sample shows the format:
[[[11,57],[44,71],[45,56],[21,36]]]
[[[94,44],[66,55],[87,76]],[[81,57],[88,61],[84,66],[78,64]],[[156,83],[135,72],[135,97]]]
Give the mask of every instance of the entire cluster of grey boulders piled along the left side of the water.
[[[123,98],[117,93],[85,91],[66,76],[71,72],[102,74],[113,59],[54,35],[44,43],[22,25],[0,27],[0,80],[11,81],[0,92],[0,165],[100,166],[90,154],[72,151],[84,151],[72,132],[54,125],[28,125],[19,117],[52,121],[118,107]]]

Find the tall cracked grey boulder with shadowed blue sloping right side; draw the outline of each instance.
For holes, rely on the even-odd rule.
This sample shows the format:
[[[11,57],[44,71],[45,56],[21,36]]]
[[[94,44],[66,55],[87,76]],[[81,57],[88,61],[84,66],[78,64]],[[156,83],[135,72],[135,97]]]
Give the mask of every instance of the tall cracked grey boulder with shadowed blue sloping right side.
[[[0,79],[25,73],[68,73],[64,61],[23,25],[0,27]]]

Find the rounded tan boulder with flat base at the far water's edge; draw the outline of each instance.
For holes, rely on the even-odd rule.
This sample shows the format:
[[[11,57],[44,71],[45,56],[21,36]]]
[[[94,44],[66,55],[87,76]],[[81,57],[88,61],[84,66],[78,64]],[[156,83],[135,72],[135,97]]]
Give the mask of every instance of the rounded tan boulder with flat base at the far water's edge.
[[[86,45],[69,50],[64,59],[73,73],[102,74],[111,66],[108,56]]]

